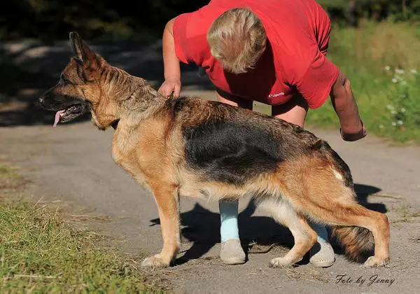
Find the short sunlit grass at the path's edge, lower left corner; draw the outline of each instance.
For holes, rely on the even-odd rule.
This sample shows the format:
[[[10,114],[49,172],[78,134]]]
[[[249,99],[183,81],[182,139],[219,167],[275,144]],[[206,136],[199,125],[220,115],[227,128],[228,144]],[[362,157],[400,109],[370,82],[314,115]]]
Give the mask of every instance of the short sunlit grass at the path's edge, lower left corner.
[[[0,292],[160,293],[137,265],[111,249],[97,248],[99,237],[71,228],[46,207],[2,194],[22,179],[0,165]]]

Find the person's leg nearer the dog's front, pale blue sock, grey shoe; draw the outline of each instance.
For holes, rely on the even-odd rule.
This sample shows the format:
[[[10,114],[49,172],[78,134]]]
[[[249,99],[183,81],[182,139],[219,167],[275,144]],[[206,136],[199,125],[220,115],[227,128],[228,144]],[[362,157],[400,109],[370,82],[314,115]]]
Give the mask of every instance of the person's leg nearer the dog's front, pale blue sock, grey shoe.
[[[229,96],[220,90],[216,92],[216,95],[219,102],[252,109],[252,101]],[[229,265],[244,263],[245,253],[239,239],[238,202],[221,200],[219,210],[221,213],[221,259]]]

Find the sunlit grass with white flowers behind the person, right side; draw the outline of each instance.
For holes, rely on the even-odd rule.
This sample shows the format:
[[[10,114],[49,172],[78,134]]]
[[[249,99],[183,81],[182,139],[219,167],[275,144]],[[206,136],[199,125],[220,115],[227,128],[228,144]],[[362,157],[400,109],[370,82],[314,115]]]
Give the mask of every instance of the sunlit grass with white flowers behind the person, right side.
[[[419,31],[417,26],[392,22],[332,31],[329,58],[349,76],[371,134],[420,143]],[[309,111],[308,124],[339,127],[329,100]]]

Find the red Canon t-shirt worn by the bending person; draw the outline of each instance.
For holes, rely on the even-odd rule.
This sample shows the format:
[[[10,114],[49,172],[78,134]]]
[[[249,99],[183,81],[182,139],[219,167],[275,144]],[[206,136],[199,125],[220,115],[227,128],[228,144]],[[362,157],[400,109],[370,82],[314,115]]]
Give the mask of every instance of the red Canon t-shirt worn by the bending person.
[[[265,28],[267,50],[254,69],[235,75],[225,72],[211,55],[207,31],[226,10],[251,9]],[[174,21],[176,56],[207,72],[219,89],[269,105],[287,102],[300,92],[311,109],[321,106],[330,94],[339,69],[325,54],[330,20],[315,0],[212,0]]]

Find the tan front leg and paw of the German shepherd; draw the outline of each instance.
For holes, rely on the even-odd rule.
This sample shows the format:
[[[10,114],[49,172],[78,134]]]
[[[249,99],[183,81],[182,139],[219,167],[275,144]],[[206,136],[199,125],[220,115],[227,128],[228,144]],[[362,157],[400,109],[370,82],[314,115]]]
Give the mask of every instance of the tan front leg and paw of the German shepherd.
[[[163,248],[159,254],[146,258],[144,267],[168,267],[179,251],[179,196],[176,186],[167,183],[151,185],[156,204],[158,204]]]

